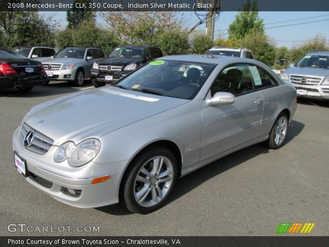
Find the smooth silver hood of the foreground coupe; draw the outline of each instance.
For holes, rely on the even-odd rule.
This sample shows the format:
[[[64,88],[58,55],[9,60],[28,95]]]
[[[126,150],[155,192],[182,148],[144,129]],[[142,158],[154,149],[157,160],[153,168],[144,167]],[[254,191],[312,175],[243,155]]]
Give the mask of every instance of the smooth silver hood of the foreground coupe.
[[[53,139],[54,145],[79,143],[187,102],[105,86],[36,105],[24,121]]]

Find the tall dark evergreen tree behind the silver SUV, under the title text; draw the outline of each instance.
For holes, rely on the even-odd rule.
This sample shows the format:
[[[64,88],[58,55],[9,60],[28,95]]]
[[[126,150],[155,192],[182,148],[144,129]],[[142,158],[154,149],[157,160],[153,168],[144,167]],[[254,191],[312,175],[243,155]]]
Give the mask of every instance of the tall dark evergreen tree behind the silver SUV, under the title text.
[[[75,0],[72,10],[66,12],[66,20],[68,28],[75,28],[80,23],[95,20],[95,13],[89,8],[77,8],[76,4],[89,4],[92,3],[90,0]]]

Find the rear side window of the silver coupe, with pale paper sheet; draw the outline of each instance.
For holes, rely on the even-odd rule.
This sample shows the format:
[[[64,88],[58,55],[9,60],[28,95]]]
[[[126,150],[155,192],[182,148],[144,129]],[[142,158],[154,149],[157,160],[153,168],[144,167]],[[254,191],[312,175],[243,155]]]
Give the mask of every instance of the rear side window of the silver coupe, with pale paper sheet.
[[[274,79],[264,68],[249,65],[249,69],[252,75],[255,90],[278,85],[276,79]]]

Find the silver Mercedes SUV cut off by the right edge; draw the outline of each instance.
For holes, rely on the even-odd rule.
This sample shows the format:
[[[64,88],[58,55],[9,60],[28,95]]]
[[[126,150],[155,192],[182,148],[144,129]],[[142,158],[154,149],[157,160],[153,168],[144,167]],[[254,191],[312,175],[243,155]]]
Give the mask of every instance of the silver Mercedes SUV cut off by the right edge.
[[[328,100],[329,51],[309,52],[286,69],[281,78],[296,87],[298,97]]]

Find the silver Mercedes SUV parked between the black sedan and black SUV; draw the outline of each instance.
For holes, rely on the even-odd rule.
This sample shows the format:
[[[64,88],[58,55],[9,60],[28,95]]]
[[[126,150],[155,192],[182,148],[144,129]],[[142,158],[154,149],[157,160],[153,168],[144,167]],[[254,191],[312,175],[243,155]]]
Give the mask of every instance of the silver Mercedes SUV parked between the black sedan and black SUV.
[[[49,80],[72,81],[82,86],[90,79],[93,63],[104,57],[104,51],[98,48],[64,47],[43,65]]]

